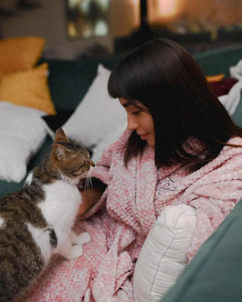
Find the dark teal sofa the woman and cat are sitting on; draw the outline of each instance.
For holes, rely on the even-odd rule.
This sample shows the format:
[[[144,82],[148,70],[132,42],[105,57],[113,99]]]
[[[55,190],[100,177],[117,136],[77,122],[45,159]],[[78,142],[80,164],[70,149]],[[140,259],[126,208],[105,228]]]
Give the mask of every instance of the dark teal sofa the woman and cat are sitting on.
[[[196,54],[194,59],[206,76],[224,73],[242,59],[242,44]],[[57,112],[74,110],[84,97],[102,63],[113,69],[118,57],[103,61],[82,59],[78,61],[46,60],[49,63],[49,88]],[[42,63],[44,60],[41,60]],[[242,100],[233,115],[242,126]],[[39,152],[31,159],[28,171],[40,163],[51,145],[48,136]],[[24,181],[0,181],[0,198],[22,188]],[[228,215],[215,233],[209,237],[193,261],[184,270],[174,287],[162,302],[239,302],[242,301],[242,200]]]

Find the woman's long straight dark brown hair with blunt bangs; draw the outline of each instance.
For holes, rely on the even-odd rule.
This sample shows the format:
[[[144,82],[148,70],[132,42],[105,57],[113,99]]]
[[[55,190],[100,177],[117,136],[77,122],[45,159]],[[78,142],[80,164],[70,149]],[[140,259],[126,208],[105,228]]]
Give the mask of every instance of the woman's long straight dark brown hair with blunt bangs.
[[[224,145],[237,146],[227,143],[230,137],[242,137],[242,129],[233,123],[199,65],[173,41],[152,40],[129,53],[111,73],[108,92],[135,107],[138,100],[149,109],[158,167],[183,163],[196,170],[217,157]],[[189,140],[192,136],[205,143],[205,158],[198,156]],[[132,131],[124,156],[126,166],[146,143]],[[187,153],[184,143],[196,155]]]

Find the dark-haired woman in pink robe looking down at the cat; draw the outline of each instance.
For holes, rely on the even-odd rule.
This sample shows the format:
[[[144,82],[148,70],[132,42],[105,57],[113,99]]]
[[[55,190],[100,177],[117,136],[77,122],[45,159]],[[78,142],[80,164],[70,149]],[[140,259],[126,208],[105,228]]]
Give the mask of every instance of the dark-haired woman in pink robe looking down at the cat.
[[[111,73],[108,91],[127,111],[128,129],[97,162],[94,190],[82,193],[79,231],[91,242],[45,281],[53,299],[61,280],[63,300],[75,292],[76,300],[133,301],[135,261],[167,205],[196,209],[191,259],[242,196],[242,130],[177,43],[134,50]],[[43,297],[42,288],[32,300]]]

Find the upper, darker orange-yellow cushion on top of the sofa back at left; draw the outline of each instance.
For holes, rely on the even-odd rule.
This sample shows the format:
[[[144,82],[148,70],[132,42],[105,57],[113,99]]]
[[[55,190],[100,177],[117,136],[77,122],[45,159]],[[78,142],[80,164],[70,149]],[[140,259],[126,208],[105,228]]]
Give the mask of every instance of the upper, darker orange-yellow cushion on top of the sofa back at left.
[[[31,69],[40,59],[45,39],[10,38],[0,41],[0,72]]]

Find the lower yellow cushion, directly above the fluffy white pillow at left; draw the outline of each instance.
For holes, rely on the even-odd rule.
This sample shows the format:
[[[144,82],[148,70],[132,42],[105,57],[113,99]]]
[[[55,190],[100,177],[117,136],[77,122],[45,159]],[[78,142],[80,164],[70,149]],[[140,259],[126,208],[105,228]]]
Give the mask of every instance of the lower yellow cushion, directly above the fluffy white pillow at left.
[[[48,63],[27,71],[0,75],[0,100],[33,107],[55,115],[47,84]]]

